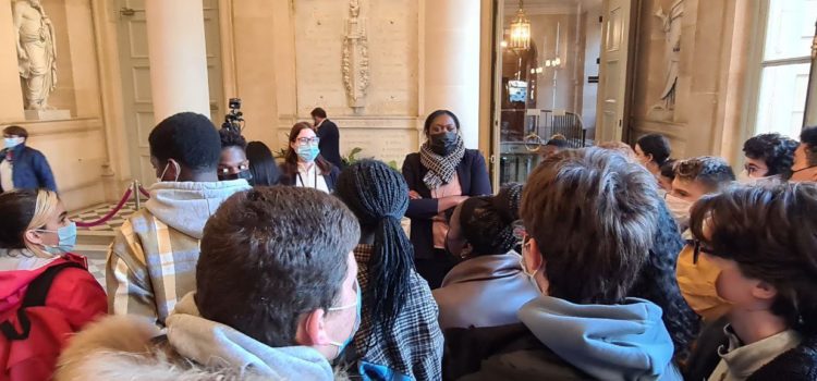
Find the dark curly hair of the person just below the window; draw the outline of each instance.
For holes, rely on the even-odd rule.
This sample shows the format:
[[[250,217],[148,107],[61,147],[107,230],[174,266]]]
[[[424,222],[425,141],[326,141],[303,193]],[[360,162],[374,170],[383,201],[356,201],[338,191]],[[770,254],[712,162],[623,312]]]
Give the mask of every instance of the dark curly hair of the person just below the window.
[[[743,144],[743,153],[749,159],[763,160],[769,169],[767,176],[788,179],[794,164],[794,151],[800,144],[780,134],[760,134]]]

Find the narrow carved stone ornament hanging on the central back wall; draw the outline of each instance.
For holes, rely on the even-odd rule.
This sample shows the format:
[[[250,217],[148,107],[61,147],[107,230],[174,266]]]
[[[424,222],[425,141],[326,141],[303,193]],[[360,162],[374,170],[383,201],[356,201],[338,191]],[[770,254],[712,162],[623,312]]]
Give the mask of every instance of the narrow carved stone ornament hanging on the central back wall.
[[[366,106],[369,86],[369,53],[366,38],[366,20],[361,17],[359,0],[350,0],[346,30],[343,38],[343,85],[349,103],[355,113]]]

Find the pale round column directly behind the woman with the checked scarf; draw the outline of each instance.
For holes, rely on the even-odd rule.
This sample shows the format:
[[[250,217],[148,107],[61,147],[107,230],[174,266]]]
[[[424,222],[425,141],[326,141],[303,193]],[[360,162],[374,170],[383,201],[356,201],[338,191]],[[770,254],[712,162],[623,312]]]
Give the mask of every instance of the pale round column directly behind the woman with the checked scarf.
[[[479,1],[425,1],[423,115],[460,119],[467,148],[479,148]]]

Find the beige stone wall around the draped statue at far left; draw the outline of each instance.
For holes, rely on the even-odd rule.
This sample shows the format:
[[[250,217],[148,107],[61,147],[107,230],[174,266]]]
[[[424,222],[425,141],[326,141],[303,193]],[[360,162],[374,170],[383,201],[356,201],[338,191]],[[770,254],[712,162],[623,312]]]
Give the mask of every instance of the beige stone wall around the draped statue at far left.
[[[0,3],[0,25],[12,23],[13,2]],[[0,28],[0,126],[17,124],[29,133],[28,145],[42,151],[57,177],[68,209],[99,204],[106,197],[109,155],[100,103],[97,47],[89,0],[44,0],[54,26],[58,84],[49,102],[71,119],[25,120],[12,27]]]

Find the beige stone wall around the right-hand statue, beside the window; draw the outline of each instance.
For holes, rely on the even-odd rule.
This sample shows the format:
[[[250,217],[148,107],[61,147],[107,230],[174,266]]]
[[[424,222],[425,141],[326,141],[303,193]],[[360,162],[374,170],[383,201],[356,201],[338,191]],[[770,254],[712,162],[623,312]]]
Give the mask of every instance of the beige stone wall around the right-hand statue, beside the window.
[[[666,36],[655,13],[676,0],[643,1],[638,10],[631,140],[647,133],[670,138],[672,156],[719,155],[736,161],[742,139],[749,5],[739,0],[683,0],[674,110],[657,106],[664,87]]]

